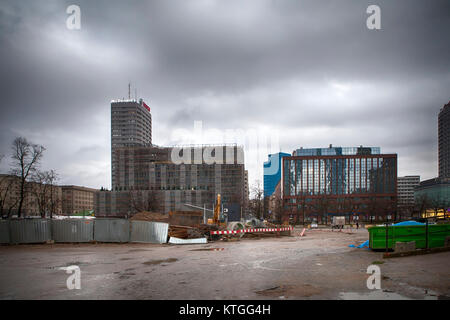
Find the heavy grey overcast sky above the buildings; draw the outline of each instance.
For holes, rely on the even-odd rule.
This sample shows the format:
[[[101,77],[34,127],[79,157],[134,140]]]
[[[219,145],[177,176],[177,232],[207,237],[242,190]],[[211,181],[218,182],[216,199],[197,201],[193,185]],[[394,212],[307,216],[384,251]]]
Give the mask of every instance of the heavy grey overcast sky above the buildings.
[[[81,30],[66,27],[71,4]],[[366,27],[371,4],[381,30]],[[131,82],[158,145],[202,121],[277,137],[272,149],[289,153],[379,146],[398,154],[399,175],[432,178],[449,31],[448,0],[2,0],[0,168],[24,136],[47,148],[42,167],[62,184],[110,187],[110,101]],[[246,155],[251,183],[258,150]]]

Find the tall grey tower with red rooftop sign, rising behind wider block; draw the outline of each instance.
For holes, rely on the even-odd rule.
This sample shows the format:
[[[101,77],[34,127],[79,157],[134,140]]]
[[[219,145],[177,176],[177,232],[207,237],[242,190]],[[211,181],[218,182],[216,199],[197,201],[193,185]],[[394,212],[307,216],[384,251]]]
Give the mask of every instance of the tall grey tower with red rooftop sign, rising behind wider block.
[[[142,100],[111,101],[111,184],[116,187],[114,175],[117,166],[115,151],[121,147],[152,145],[152,115]]]

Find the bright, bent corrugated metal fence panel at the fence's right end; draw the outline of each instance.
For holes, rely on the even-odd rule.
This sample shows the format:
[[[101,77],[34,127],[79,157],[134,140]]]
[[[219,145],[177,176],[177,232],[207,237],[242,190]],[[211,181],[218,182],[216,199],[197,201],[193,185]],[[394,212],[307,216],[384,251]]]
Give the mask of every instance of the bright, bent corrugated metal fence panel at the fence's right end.
[[[131,242],[166,243],[168,233],[168,223],[131,221]]]

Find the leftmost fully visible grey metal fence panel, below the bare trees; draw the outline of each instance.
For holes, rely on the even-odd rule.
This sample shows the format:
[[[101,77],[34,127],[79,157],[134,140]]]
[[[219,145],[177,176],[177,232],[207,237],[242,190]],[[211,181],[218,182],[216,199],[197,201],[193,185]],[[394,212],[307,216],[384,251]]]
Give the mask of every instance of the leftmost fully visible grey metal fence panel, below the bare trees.
[[[43,243],[50,241],[51,221],[49,219],[25,219],[9,221],[11,243]]]

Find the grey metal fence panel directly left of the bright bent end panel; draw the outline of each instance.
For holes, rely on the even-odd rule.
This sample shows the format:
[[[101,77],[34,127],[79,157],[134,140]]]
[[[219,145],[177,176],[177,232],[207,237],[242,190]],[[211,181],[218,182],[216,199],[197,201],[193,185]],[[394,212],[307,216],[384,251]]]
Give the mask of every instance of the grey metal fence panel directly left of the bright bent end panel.
[[[130,221],[127,219],[95,219],[94,240],[99,242],[129,242]]]

